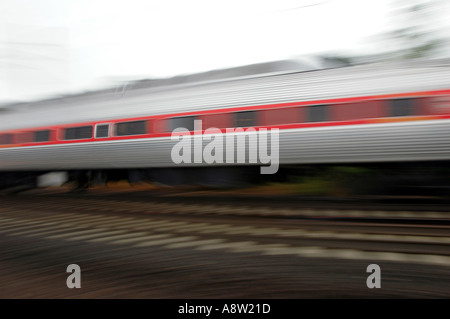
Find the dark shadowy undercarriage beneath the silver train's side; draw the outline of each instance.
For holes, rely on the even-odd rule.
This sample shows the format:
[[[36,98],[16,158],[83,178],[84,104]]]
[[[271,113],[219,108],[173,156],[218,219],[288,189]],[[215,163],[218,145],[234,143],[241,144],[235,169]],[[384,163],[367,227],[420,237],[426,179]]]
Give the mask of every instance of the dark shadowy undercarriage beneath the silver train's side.
[[[74,191],[127,181],[130,185],[246,188],[290,185],[307,195],[450,195],[450,162],[398,162],[346,165],[282,165],[277,174],[262,175],[258,166],[92,169],[1,172],[0,190],[18,193],[39,187],[70,185]]]

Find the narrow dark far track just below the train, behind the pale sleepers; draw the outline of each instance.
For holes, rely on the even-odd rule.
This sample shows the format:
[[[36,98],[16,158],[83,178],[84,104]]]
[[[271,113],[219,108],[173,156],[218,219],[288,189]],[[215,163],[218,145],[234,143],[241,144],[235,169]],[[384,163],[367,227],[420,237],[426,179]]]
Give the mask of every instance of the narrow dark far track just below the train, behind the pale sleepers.
[[[0,197],[1,198],[1,197]],[[14,196],[4,196],[4,200]],[[72,205],[95,211],[170,213],[189,215],[243,215],[264,217],[331,217],[439,220],[450,222],[450,202],[436,199],[330,199],[296,196],[236,196],[214,192],[111,192],[108,189],[88,193],[38,191],[20,195],[31,205],[58,208]],[[13,200],[14,202],[14,200]],[[25,203],[23,202],[23,203]]]

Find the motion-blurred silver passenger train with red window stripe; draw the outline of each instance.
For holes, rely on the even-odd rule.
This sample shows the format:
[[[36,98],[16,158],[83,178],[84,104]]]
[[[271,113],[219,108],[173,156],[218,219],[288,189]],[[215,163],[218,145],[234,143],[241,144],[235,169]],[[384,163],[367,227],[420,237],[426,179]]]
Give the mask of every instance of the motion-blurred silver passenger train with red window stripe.
[[[210,128],[212,135],[244,135],[243,144],[219,155],[246,151],[247,158],[174,161],[180,127],[192,140]],[[279,170],[264,175],[267,162],[251,160],[250,135],[267,131],[277,134]],[[330,165],[410,175],[417,163],[447,180],[449,160],[448,59],[319,67],[275,61],[0,108],[3,189],[45,185],[44,176],[78,187],[119,179],[235,185]]]

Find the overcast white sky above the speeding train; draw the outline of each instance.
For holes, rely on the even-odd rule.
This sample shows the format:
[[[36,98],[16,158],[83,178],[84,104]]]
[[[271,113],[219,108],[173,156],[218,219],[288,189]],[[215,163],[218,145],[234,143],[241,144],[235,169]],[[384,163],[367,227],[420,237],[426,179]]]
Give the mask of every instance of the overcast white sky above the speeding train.
[[[0,104],[379,50],[392,0],[0,0]]]

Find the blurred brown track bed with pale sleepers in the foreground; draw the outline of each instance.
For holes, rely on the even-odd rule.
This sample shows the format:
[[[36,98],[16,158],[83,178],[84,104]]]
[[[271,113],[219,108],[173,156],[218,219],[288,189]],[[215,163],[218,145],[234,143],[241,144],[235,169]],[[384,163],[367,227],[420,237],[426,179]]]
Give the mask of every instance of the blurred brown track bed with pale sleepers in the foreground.
[[[8,278],[2,297],[26,296],[27,278],[36,274],[47,281],[32,297],[450,296],[442,280],[450,274],[450,225],[443,211],[411,219],[399,210],[392,220],[356,209],[332,215],[314,208],[308,215],[269,207],[258,214],[257,205],[243,202],[222,207],[191,200],[0,197],[0,275]],[[87,268],[88,283],[77,293],[60,280],[71,263]],[[365,287],[365,267],[373,263],[387,274],[377,292]],[[155,276],[166,281],[160,278],[155,287]],[[318,282],[305,285],[308,278]],[[205,281],[214,288],[206,289]]]

